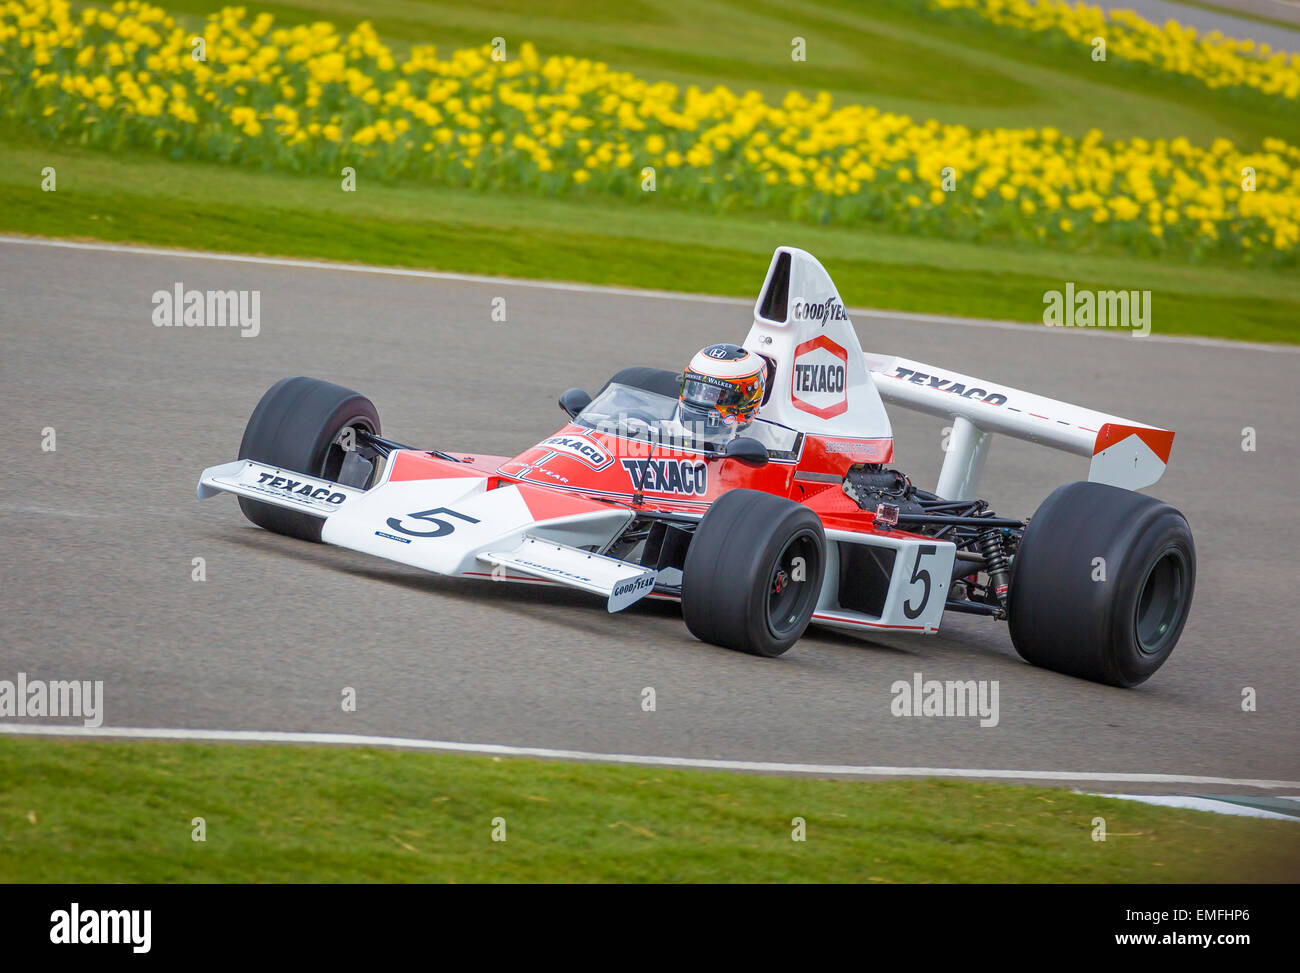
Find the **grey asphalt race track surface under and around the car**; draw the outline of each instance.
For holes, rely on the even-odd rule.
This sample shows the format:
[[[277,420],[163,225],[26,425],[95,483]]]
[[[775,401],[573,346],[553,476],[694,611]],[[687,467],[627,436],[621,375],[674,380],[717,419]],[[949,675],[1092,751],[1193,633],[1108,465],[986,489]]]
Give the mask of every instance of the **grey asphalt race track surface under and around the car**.
[[[833,276],[835,255],[819,256]],[[151,295],[176,282],[260,290],[260,334],[153,327]],[[610,615],[581,593],[424,575],[263,532],[230,497],[195,498],[282,376],[367,393],[396,440],[514,454],[560,427],[566,388],[681,367],[749,323],[742,302],[0,242],[0,679],[103,679],[116,727],[1300,779],[1290,351],[855,315],[868,350],[1178,432],[1149,492],[1192,524],[1196,600],[1170,662],[1132,691],[1024,665],[1001,623],[970,617],[931,637],[814,630],[779,660],[751,658],[696,641],[671,604]],[[892,415],[897,466],[932,486],[942,423]],[[1086,475],[1079,457],[998,438],[984,493],[1024,516]],[[914,673],[998,680],[998,725],[892,715],[890,684]],[[1245,687],[1257,712],[1242,709]]]

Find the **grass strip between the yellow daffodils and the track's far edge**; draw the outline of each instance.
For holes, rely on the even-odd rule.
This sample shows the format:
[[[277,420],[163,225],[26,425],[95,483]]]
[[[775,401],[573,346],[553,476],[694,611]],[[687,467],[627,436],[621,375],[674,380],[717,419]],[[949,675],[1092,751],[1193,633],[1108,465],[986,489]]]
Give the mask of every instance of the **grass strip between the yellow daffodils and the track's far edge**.
[[[1300,342],[1300,277],[916,239],[644,203],[478,195],[0,140],[0,232],[754,297],[777,245],[816,254],[845,300],[1041,321],[1043,294],[1152,291],[1157,334]],[[47,165],[57,191],[40,191]]]

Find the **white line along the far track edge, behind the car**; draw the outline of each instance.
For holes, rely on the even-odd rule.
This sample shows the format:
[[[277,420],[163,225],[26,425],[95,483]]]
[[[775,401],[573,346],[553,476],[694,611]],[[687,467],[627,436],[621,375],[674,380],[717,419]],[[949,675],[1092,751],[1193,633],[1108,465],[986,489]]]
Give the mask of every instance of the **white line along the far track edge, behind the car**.
[[[204,250],[172,250],[168,247],[146,247],[127,243],[91,243],[68,239],[44,239],[40,237],[12,237],[0,234],[0,243],[14,243],[30,247],[57,247],[64,250],[95,250],[109,254],[139,254],[143,256],[174,256],[188,260],[224,260],[238,264],[263,264],[268,267],[296,267],[311,271],[343,271],[346,273],[377,273],[390,277],[417,277],[437,281],[459,281],[463,284],[497,284],[506,287],[537,287],[540,290],[560,290],[573,294],[607,294],[611,297],[656,298],[660,300],[686,300],[701,304],[733,304],[750,307],[749,298],[728,298],[716,294],[689,294],[675,290],[651,290],[640,287],[616,287],[601,284],[572,284],[564,281],[537,281],[521,277],[493,277],[482,273],[452,273],[450,271],[417,271],[406,267],[376,267],[372,264],[332,263],[329,260],[303,260],[281,256],[251,256],[247,254],[218,254]],[[870,307],[850,307],[849,313],[878,320],[913,321],[916,324],[940,324],[961,328],[994,328],[998,330],[1020,330],[1032,334],[1101,334],[1109,338],[1127,338],[1123,333],[1110,333],[1097,328],[1045,328],[1032,321],[998,321],[988,317],[954,317],[948,315],[927,315],[915,311],[881,311]],[[1270,345],[1258,341],[1230,341],[1227,338],[1197,338],[1191,334],[1148,334],[1141,341],[1156,341],[1173,345],[1197,345],[1201,347],[1238,349],[1245,351],[1282,351],[1300,354],[1296,345]]]

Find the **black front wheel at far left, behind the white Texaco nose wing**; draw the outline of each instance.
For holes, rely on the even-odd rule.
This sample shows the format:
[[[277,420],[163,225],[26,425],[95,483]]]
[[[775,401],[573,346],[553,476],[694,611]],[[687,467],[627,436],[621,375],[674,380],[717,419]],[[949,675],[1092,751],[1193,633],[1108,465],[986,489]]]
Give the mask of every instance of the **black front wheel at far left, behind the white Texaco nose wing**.
[[[347,462],[358,432],[380,432],[380,414],[365,395],[318,379],[281,379],[252,411],[239,459],[364,489],[370,471]],[[239,498],[239,509],[268,531],[306,541],[321,539],[325,522],[317,516],[247,497]]]

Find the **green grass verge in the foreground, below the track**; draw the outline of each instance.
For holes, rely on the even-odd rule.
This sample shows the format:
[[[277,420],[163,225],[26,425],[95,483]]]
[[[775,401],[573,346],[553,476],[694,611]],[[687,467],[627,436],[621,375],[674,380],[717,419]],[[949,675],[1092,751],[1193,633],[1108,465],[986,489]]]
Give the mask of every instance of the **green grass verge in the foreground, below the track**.
[[[0,882],[1295,881],[1297,834],[956,780],[0,740]]]

